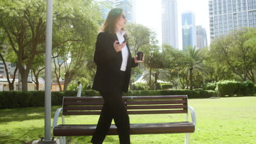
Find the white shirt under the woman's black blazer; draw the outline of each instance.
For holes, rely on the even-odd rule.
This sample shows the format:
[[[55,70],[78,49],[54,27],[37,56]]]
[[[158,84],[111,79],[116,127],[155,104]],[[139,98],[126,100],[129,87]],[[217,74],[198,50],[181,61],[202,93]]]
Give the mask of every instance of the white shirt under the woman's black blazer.
[[[125,40],[124,39],[125,31],[115,31],[115,34],[117,34],[119,44],[123,43],[123,41]],[[123,47],[121,52],[122,52],[123,62],[122,62],[120,70],[125,71],[126,66],[127,66],[127,61],[128,61],[128,55],[129,55],[129,52],[128,52],[128,49],[127,49],[126,45]]]

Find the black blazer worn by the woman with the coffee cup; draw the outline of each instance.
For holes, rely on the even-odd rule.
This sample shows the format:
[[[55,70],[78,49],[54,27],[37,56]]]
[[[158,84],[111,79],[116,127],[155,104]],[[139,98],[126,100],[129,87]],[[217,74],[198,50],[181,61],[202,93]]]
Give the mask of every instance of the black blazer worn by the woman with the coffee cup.
[[[116,34],[113,35],[107,31],[98,34],[94,53],[94,62],[97,65],[97,70],[92,86],[92,89],[96,91],[113,92],[118,90],[118,75],[123,57],[121,51],[116,52],[114,49],[115,40],[118,40]],[[131,56],[129,44],[127,43],[126,46],[129,51],[129,56],[125,71],[123,92],[128,91],[131,68],[138,65]]]

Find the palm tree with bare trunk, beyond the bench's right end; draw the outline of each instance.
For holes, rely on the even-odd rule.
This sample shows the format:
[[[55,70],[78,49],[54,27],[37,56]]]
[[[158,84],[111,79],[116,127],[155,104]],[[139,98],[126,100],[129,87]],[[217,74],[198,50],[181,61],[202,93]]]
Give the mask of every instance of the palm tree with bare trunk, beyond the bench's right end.
[[[202,52],[200,49],[196,49],[196,47],[189,45],[187,49],[185,49],[185,53],[190,57],[190,63],[188,67],[185,68],[185,71],[189,70],[189,79],[190,79],[190,90],[193,90],[193,71],[198,71],[203,73],[206,69],[206,66],[202,63]]]

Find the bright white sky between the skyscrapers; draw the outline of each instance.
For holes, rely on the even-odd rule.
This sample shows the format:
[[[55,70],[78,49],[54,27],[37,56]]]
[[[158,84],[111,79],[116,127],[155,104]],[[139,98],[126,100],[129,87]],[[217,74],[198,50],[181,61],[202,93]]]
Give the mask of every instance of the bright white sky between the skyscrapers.
[[[153,29],[158,34],[159,45],[162,43],[161,0],[135,0],[136,23]],[[182,24],[181,16],[184,11],[195,14],[195,24],[206,29],[208,45],[210,44],[210,22],[208,13],[208,0],[177,0],[178,7],[178,33],[179,50],[182,50]]]

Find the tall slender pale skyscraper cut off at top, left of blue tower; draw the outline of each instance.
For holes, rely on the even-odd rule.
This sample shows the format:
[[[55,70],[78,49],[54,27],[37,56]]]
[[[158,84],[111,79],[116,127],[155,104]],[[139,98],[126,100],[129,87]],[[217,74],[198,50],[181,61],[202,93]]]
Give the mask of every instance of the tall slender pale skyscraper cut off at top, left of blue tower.
[[[162,44],[178,49],[177,0],[162,0]]]

